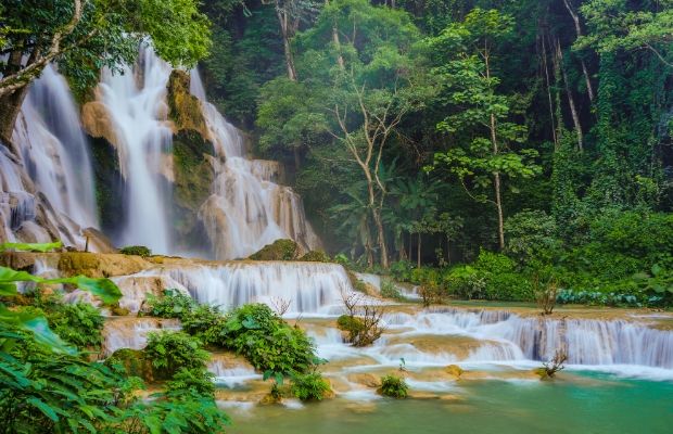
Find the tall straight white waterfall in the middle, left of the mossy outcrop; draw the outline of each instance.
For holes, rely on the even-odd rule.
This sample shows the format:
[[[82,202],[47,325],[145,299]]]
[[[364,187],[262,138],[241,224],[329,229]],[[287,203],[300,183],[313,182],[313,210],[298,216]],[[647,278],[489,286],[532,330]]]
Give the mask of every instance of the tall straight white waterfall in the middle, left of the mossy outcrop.
[[[124,74],[104,69],[99,101],[114,128],[122,176],[127,186],[126,215],[119,244],[140,244],[170,252],[170,192],[162,176],[173,131],[167,120],[166,82],[170,67],[143,49]]]

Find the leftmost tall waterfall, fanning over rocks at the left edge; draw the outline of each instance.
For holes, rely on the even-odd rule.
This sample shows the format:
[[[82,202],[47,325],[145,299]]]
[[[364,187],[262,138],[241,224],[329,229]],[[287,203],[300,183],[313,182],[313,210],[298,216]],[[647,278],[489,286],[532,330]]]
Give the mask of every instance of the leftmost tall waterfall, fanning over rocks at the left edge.
[[[89,149],[65,79],[48,65],[0,149],[0,240],[62,240],[84,247],[98,226]],[[94,246],[92,246],[96,250]]]

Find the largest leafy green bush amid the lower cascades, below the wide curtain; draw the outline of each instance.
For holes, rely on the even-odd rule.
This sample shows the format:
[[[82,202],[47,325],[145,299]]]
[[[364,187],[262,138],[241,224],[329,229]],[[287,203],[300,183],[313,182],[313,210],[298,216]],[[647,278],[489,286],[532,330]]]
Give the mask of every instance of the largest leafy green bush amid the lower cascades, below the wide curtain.
[[[241,306],[225,317],[218,344],[243,355],[255,368],[290,375],[307,372],[319,360],[312,340],[268,306]],[[213,335],[217,333],[214,332]]]

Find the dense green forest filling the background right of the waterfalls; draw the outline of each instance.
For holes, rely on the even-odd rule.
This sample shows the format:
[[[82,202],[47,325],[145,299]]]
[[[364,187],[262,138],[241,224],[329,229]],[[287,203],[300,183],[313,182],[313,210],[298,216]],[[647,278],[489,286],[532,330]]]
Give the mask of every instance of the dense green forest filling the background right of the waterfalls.
[[[330,253],[604,288],[671,268],[671,5],[213,1],[201,66]]]

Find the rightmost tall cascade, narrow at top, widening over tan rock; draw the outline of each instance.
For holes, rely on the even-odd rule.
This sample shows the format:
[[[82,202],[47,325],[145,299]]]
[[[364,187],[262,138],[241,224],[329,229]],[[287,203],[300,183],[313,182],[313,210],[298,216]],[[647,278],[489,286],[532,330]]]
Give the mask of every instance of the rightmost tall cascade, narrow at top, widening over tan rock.
[[[218,259],[246,257],[278,239],[293,239],[305,251],[320,244],[304,215],[301,197],[275,183],[280,165],[249,159],[242,135],[205,100],[196,72],[191,91],[201,99],[208,132],[215,145],[215,180],[211,196],[201,206]]]

